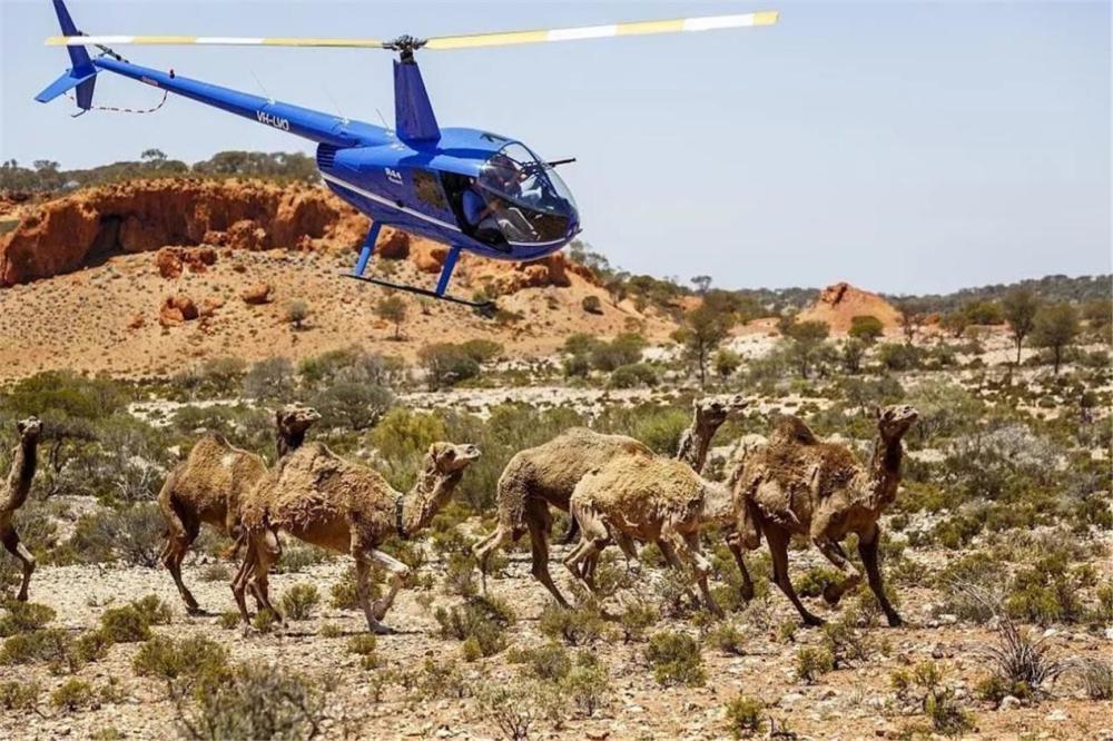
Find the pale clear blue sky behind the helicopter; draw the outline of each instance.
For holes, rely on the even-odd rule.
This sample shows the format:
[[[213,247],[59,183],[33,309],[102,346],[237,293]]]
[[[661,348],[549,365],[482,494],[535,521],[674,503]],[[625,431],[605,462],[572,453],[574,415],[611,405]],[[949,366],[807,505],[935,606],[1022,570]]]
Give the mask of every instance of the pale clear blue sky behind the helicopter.
[[[89,33],[435,36],[777,9],[780,23],[426,52],[442,125],[522,139],[562,169],[583,238],[634,271],[723,287],[840,279],[943,292],[1111,269],[1109,2],[98,2]],[[0,157],[63,167],[158,147],[311,142],[184,99],[151,116],[32,97],[67,65],[47,0],[0,0]],[[132,61],[393,119],[386,52],[130,48]],[[101,75],[97,102],[158,93]]]

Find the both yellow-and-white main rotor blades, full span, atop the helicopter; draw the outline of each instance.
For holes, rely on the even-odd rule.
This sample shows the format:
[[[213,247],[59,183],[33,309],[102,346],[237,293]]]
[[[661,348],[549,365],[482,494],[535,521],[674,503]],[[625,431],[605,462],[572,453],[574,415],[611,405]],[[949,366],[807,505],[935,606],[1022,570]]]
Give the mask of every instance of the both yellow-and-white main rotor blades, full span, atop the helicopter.
[[[521,43],[546,43],[549,41],[577,41],[602,39],[614,36],[648,36],[651,33],[682,33],[687,31],[713,31],[750,26],[772,26],[778,13],[766,10],[733,16],[701,16],[697,18],[673,18],[670,20],[632,21],[607,26],[579,26],[574,28],[539,29],[533,31],[496,31],[494,33],[469,33],[465,36],[435,36],[413,41],[413,48],[424,49],[475,49],[480,47],[505,47]],[[380,39],[328,39],[292,37],[230,37],[230,36],[51,36],[47,46],[80,47],[96,46],[217,46],[217,47],[317,47],[394,49],[396,42]]]

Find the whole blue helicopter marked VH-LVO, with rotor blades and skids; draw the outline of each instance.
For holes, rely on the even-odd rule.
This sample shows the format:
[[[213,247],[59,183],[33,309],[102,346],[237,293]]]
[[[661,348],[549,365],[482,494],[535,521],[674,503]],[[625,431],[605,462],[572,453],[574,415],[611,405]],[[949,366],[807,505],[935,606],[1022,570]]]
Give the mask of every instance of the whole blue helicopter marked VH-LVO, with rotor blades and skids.
[[[575,200],[555,166],[521,141],[466,128],[441,128],[414,58],[418,49],[444,50],[572,41],[615,36],[708,31],[770,26],[774,11],[609,26],[504,31],[393,40],[328,38],[244,38],[186,36],[87,36],[77,29],[62,0],[53,0],[62,36],[48,46],[66,46],[72,67],[40,92],[48,102],[75,90],[77,116],[91,109],[93,86],[102,70],[167,92],[191,98],[263,126],[317,142],[317,168],[337,196],[372,219],[352,278],[436,299],[490,309],[447,294],[462,250],[500,260],[535,260],[554,253],[580,233]],[[208,82],[132,65],[112,47],[120,45],[269,46],[371,48],[397,52],[394,60],[394,130],[325,113]],[[90,57],[87,47],[97,50]],[[432,290],[364,275],[380,229],[390,225],[449,246]]]

